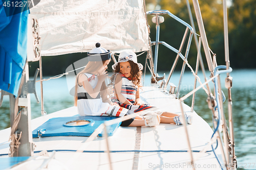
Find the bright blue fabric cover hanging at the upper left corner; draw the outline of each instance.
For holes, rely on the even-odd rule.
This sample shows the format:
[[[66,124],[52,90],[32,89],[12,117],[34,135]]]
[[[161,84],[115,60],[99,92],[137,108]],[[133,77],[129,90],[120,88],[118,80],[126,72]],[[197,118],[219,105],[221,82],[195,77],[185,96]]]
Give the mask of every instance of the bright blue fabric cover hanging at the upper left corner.
[[[0,89],[15,96],[27,59],[28,13],[29,10],[7,17],[0,1]]]

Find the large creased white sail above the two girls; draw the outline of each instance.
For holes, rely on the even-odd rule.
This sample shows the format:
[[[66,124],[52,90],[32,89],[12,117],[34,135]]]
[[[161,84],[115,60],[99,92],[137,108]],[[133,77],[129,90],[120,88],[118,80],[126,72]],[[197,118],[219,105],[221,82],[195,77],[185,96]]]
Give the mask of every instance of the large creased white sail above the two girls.
[[[41,56],[88,52],[96,42],[115,53],[148,50],[142,0],[41,0],[30,12],[39,22]]]

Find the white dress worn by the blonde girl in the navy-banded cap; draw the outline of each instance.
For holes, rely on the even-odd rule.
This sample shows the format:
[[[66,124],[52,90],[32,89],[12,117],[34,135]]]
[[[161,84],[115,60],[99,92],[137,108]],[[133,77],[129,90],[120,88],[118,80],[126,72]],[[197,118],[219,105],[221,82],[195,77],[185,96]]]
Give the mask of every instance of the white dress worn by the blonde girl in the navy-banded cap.
[[[92,74],[84,73],[87,76],[88,81],[94,89],[98,83],[98,77]],[[128,109],[111,106],[109,103],[103,103],[100,93],[93,99],[83,88],[83,86],[77,86],[77,110],[81,116],[124,116]]]

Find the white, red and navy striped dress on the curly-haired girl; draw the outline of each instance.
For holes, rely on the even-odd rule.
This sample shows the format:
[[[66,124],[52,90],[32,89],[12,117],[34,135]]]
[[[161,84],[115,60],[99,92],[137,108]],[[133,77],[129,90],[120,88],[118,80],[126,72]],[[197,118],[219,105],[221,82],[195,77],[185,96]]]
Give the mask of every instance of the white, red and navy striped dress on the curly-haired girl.
[[[118,75],[121,76],[122,78],[122,88],[121,88],[121,94],[128,100],[130,101],[132,104],[135,103],[136,101],[136,92],[138,89],[137,85],[135,85],[131,78],[127,78],[125,77],[123,74],[121,73],[117,73]],[[116,75],[117,75],[116,74]],[[116,80],[116,78],[115,78]],[[115,82],[115,81],[114,81]],[[115,87],[113,89],[113,93],[115,94]],[[116,96],[114,95],[112,97],[112,102],[113,103],[117,103],[119,106],[124,107],[126,109],[129,109],[130,111],[127,112],[126,114],[131,114],[131,113],[136,113],[142,110],[146,110],[146,109],[150,109],[151,111],[148,111],[146,114],[162,114],[163,112],[160,111],[159,108],[154,107],[154,106],[148,106],[147,104],[142,104],[142,105],[130,105],[130,104],[123,104],[121,103]],[[154,110],[154,111],[152,111]]]

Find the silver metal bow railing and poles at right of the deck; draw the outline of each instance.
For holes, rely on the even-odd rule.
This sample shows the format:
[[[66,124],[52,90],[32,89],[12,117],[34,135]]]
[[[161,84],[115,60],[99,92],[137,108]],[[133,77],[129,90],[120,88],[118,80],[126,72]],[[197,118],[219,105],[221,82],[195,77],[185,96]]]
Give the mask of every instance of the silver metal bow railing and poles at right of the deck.
[[[152,45],[156,45],[156,52],[155,53],[158,53],[158,44],[163,44],[164,46],[166,46],[167,48],[169,48],[173,52],[177,53],[177,57],[175,59],[173,67],[170,70],[170,74],[169,74],[167,83],[164,85],[163,89],[164,90],[166,89],[168,81],[170,79],[170,76],[172,75],[172,73],[174,71],[174,68],[176,67],[176,64],[177,64],[177,61],[178,61],[179,57],[182,58],[182,60],[184,62],[183,62],[182,70],[181,70],[181,76],[180,76],[178,91],[177,91],[177,94],[176,94],[176,99],[178,99],[178,97],[179,97],[179,90],[180,90],[181,81],[182,81],[182,78],[183,78],[183,72],[184,72],[185,64],[188,65],[188,67],[193,72],[193,75],[196,77],[195,84],[194,84],[194,90],[190,91],[189,93],[187,93],[185,96],[183,96],[179,100],[180,103],[181,103],[186,98],[188,98],[188,96],[193,94],[193,101],[192,101],[192,104],[191,104],[192,105],[191,106],[191,112],[194,111],[195,92],[197,90],[199,90],[200,88],[204,88],[204,85],[207,84],[208,91],[205,88],[204,89],[205,89],[206,93],[209,96],[212,96],[211,90],[210,90],[210,87],[209,87],[208,83],[210,81],[212,81],[212,80],[214,81],[215,95],[216,95],[216,102],[217,102],[216,108],[218,108],[218,115],[219,116],[217,116],[215,114],[215,112],[217,111],[217,110],[215,110],[216,108],[215,107],[210,107],[210,104],[209,104],[209,108],[212,110],[212,113],[214,114],[215,119],[218,119],[218,123],[216,123],[216,121],[214,119],[214,129],[215,130],[214,130],[214,134],[212,134],[211,142],[214,139],[215,134],[217,134],[217,137],[216,137],[217,138],[217,142],[219,141],[221,143],[220,147],[221,147],[221,153],[222,153],[223,161],[224,161],[224,164],[225,164],[226,168],[228,169],[228,166],[227,166],[228,164],[236,163],[236,162],[234,162],[234,161],[236,161],[236,157],[234,155],[234,150],[233,150],[233,148],[234,148],[233,141],[231,141],[231,145],[230,146],[228,145],[229,135],[228,135],[228,129],[227,129],[227,124],[226,124],[226,118],[225,118],[224,111],[223,111],[223,104],[222,104],[222,102],[220,102],[220,101],[222,101],[222,96],[220,95],[222,93],[221,84],[220,84],[220,74],[226,73],[227,74],[227,78],[226,78],[227,79],[226,80],[227,81],[227,83],[226,83],[227,85],[225,84],[225,86],[228,89],[228,94],[229,94],[228,113],[229,113],[229,120],[231,120],[231,126],[230,126],[230,124],[229,124],[229,126],[230,126],[230,131],[231,131],[230,132],[231,133],[231,138],[232,138],[231,140],[233,140],[232,111],[231,111],[232,108],[231,108],[231,92],[230,92],[230,88],[231,88],[231,84],[232,84],[232,82],[231,82],[232,78],[229,77],[229,72],[232,71],[232,68],[229,67],[229,59],[228,59],[229,56],[227,54],[228,53],[228,49],[226,49],[228,41],[227,41],[227,36],[226,36],[227,35],[227,23],[225,23],[225,21],[227,21],[227,18],[226,18],[226,2],[224,2],[224,1],[223,1],[223,11],[225,13],[224,14],[224,30],[226,29],[225,30],[226,33],[224,31],[224,34],[225,34],[224,38],[225,38],[225,61],[226,61],[226,66],[218,66],[217,65],[217,61],[216,61],[216,58],[215,58],[216,55],[215,54],[214,54],[214,58],[213,59],[211,58],[210,48],[208,46],[208,42],[207,42],[205,30],[204,30],[204,25],[203,25],[203,21],[202,21],[202,15],[201,15],[199,3],[198,3],[197,0],[193,0],[193,4],[194,4],[197,20],[198,20],[199,31],[200,31],[200,34],[202,35],[202,37],[201,36],[199,37],[199,44],[200,45],[198,45],[198,41],[196,40],[197,36],[196,36],[196,33],[194,32],[194,29],[191,26],[189,26],[186,22],[184,22],[180,18],[178,18],[175,15],[173,15],[172,13],[170,13],[169,11],[167,11],[167,10],[154,10],[154,11],[148,11],[148,12],[146,12],[146,14],[156,15],[157,18],[158,18],[159,15],[168,14],[169,16],[173,17],[175,20],[177,20],[178,22],[180,22],[184,26],[186,26],[187,28],[186,28],[185,34],[183,36],[183,40],[182,40],[181,45],[180,45],[181,49],[182,49],[182,47],[184,45],[184,41],[186,39],[186,35],[188,33],[188,29],[190,29],[190,36],[189,36],[188,43],[187,43],[187,50],[186,50],[185,57],[181,54],[181,50],[177,50],[176,48],[174,48],[173,46],[167,44],[166,42],[159,41],[159,35],[158,34],[157,34],[156,41],[152,41]],[[188,3],[188,1],[187,1],[187,3]],[[189,3],[187,4],[187,6],[189,6]],[[190,10],[190,6],[188,7],[188,10]],[[191,14],[191,11],[190,11],[190,14]],[[189,17],[190,17],[190,20],[191,20],[191,16],[189,16]],[[192,20],[191,20],[191,23],[193,23]],[[159,23],[158,23],[158,21],[157,21],[157,31],[159,32]],[[191,37],[192,37],[193,34],[195,34],[194,37],[195,37],[195,40],[196,40],[197,50],[198,50],[197,64],[196,64],[196,73],[191,68],[191,66],[187,63],[187,55],[188,55],[189,47],[190,47],[190,44],[191,44]],[[202,56],[201,56],[201,53],[200,53],[201,41],[202,41],[202,44],[203,44],[203,47],[204,47],[208,68],[211,71],[211,78],[209,80],[207,80],[207,78],[205,76],[205,69],[204,69],[203,62],[202,62]],[[156,60],[157,60],[157,54],[155,54],[155,64],[157,63]],[[203,84],[200,82],[200,79],[197,76],[199,62],[200,62],[200,65],[202,67],[202,71],[203,71],[203,74],[204,74],[204,77],[205,77],[205,83],[203,83]],[[224,68],[226,68],[226,70],[219,70],[219,69],[224,69]],[[157,71],[157,70],[155,70],[155,71]],[[156,74],[156,72],[155,72],[155,74]],[[201,84],[198,88],[196,88],[197,80]],[[212,98],[212,100],[214,100],[214,99]],[[210,102],[212,102],[212,101],[210,100]],[[215,104],[213,104],[213,105],[215,105]],[[181,105],[181,110],[182,110],[182,116],[184,117],[182,105]],[[222,125],[220,125],[220,120],[221,119],[223,119],[223,121],[224,121],[223,122],[223,126],[224,126],[224,128],[223,128],[223,138],[222,138],[222,134],[221,134],[220,129],[219,129],[219,127],[222,126]],[[191,157],[191,163],[193,163],[195,161],[195,159],[193,159],[193,155],[191,154],[191,148],[190,148],[190,143],[189,143],[189,138],[188,138],[188,133],[187,133],[186,126],[185,126],[185,130],[186,130],[187,142],[188,142],[188,145],[189,145],[189,153],[190,153],[190,157]],[[212,144],[211,144],[211,146],[212,146]],[[229,151],[230,148],[231,148],[231,151]],[[213,147],[212,147],[212,149],[213,149]],[[213,149],[213,151],[214,151],[214,149]],[[233,160],[230,160],[230,157],[229,157],[230,152],[231,152],[231,158],[233,158]],[[215,154],[215,152],[214,152],[214,154]],[[217,158],[219,164],[221,164],[217,155],[216,155],[216,158]]]

